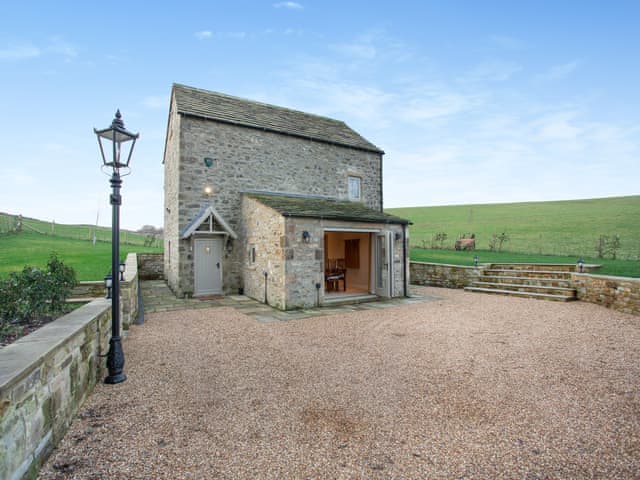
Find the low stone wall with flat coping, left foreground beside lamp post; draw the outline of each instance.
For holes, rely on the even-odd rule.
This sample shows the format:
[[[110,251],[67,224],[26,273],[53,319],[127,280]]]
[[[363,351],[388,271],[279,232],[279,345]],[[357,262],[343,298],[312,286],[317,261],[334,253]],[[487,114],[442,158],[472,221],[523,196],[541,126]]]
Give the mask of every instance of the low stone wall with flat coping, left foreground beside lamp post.
[[[94,300],[0,349],[0,478],[35,478],[104,376],[110,306]]]

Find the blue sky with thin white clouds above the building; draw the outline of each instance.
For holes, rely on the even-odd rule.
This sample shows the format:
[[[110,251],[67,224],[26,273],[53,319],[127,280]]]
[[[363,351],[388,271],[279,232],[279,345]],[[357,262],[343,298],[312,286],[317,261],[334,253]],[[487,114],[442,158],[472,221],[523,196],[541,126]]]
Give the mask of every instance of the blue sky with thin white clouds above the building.
[[[113,5],[113,7],[112,7]],[[640,193],[640,2],[3,2],[0,211],[110,225],[93,127],[140,132],[121,224],[162,225],[172,83],[344,120],[385,207]]]

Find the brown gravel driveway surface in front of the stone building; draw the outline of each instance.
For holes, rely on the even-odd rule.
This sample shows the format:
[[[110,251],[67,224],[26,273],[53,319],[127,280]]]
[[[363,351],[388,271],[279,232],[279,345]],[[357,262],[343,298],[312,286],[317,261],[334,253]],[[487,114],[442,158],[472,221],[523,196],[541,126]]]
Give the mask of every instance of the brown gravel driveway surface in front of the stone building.
[[[421,291],[441,300],[149,315],[39,478],[640,478],[639,317]]]

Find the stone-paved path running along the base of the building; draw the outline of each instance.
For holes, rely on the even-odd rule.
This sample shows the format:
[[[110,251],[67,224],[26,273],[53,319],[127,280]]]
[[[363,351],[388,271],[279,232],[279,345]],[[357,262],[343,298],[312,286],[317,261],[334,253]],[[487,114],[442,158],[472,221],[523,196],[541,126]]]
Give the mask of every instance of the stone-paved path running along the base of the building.
[[[146,280],[140,282],[142,301],[146,314],[157,312],[171,312],[175,310],[192,310],[211,307],[232,307],[237,311],[258,320],[259,322],[274,322],[284,320],[300,320],[303,318],[336,315],[339,313],[359,312],[389,308],[398,305],[411,305],[437,300],[434,295],[427,295],[423,291],[415,291],[408,298],[393,298],[353,305],[336,305],[283,312],[276,308],[260,303],[244,295],[227,295],[217,298],[178,298],[169,289],[164,280]]]

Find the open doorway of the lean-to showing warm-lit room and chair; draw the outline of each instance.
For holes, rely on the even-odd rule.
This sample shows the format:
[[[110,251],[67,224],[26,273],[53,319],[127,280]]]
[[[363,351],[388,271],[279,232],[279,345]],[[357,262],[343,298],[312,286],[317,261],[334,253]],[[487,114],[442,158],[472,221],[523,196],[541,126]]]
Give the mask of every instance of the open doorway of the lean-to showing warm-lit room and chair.
[[[325,232],[325,297],[368,295],[374,292],[371,248],[370,232]]]

